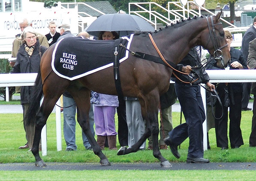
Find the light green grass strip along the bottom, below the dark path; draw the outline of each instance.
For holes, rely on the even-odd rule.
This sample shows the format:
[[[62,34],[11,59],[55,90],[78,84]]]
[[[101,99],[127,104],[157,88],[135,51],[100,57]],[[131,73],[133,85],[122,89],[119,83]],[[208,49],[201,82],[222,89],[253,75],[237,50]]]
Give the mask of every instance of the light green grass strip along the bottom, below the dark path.
[[[0,171],[1,181],[255,181],[255,171]]]

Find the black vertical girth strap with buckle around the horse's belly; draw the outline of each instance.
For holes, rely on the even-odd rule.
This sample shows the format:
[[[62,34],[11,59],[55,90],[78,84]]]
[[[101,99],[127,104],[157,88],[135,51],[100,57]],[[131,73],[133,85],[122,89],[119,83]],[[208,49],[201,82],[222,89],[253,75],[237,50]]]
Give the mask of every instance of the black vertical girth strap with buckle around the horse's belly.
[[[120,39],[115,40],[115,42],[114,42],[114,66],[113,67],[114,67],[114,84],[115,84],[115,88],[117,90],[117,95],[122,98],[123,91],[121,88],[120,73],[119,73],[119,65],[120,65],[120,62],[119,62],[120,55],[118,54],[119,44],[120,44]]]

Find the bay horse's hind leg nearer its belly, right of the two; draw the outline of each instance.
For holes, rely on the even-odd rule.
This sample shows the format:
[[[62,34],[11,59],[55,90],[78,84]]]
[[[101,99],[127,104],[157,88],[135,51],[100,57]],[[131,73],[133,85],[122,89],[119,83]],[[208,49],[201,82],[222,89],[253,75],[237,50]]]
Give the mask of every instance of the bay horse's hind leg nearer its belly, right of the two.
[[[73,98],[75,99],[75,103],[78,109],[77,120],[79,125],[84,131],[90,145],[93,148],[93,152],[95,155],[98,155],[100,158],[99,163],[102,166],[110,166],[110,162],[106,158],[106,156],[102,153],[98,143],[96,142],[93,134],[90,131],[89,124],[89,111],[90,111],[90,90],[87,88],[77,88],[73,90],[69,90]]]

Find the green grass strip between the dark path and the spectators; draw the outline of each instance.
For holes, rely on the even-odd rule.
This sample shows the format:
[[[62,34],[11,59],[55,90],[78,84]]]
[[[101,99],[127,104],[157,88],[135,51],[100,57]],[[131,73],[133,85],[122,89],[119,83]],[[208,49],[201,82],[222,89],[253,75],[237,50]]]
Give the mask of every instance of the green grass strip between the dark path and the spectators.
[[[216,138],[214,128],[209,131],[211,150],[205,151],[205,158],[211,162],[256,162],[256,148],[249,147],[249,136],[251,130],[252,111],[242,111],[241,130],[244,139],[244,145],[240,149],[220,150],[216,147]],[[63,125],[63,116],[61,115]],[[116,117],[117,118],[117,117]],[[178,126],[180,113],[173,112],[174,127]],[[34,157],[27,150],[19,150],[18,147],[26,143],[25,132],[23,128],[22,114],[0,114],[0,163],[22,163],[34,162]],[[184,122],[184,118],[183,118]],[[117,119],[116,119],[117,123]],[[117,127],[117,124],[116,124]],[[63,129],[63,126],[62,126]],[[171,162],[185,162],[187,158],[187,147],[189,140],[181,144],[179,152],[180,159],[176,159],[170,150],[161,150],[162,155]],[[76,125],[76,144],[78,146],[75,152],[65,152],[66,143],[63,138],[62,130],[62,151],[57,152],[56,148],[56,126],[55,114],[51,114],[47,121],[47,155],[42,159],[45,162],[88,162],[98,163],[99,158],[93,152],[85,150],[82,144],[81,128]],[[117,142],[117,149],[120,148]],[[152,151],[145,150],[129,155],[117,156],[116,151],[105,149],[103,153],[110,162],[133,163],[133,162],[159,162],[154,158]]]

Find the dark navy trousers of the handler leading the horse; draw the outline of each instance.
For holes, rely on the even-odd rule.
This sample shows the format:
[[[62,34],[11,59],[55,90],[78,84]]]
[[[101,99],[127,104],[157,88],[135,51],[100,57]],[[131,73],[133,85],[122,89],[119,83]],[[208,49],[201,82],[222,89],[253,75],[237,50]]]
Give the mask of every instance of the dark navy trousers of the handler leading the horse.
[[[200,158],[204,156],[203,122],[205,110],[199,85],[175,83],[175,91],[179,99],[186,123],[175,127],[169,132],[175,146],[180,145],[189,137],[188,157]]]

